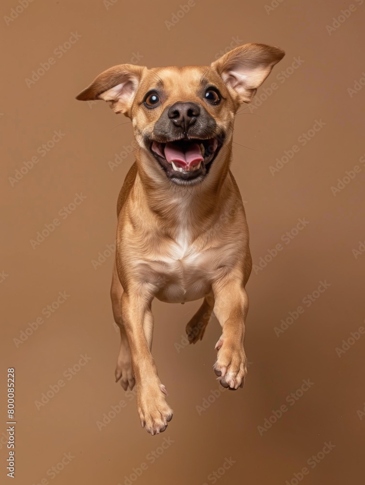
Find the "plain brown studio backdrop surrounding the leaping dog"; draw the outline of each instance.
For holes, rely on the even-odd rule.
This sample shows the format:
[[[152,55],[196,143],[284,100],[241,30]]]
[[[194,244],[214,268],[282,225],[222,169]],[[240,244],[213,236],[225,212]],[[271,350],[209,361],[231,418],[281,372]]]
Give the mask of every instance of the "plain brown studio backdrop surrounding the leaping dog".
[[[119,0],[107,8],[101,0],[34,0],[9,25],[1,18],[0,271],[7,275],[0,283],[1,481],[128,484],[125,476],[145,462],[148,468],[138,484],[202,485],[215,483],[209,474],[232,457],[235,463],[220,484],[295,484],[294,473],[305,466],[310,473],[303,484],[360,484],[365,421],[357,411],[365,401],[365,337],[340,357],[335,349],[365,318],[365,255],[352,253],[365,239],[365,168],[359,162],[365,153],[365,88],[352,97],[348,92],[365,71],[364,6],[354,1],[356,11],[330,34],[326,25],[349,3],[284,0],[268,13],[260,1],[196,0],[169,30],[165,21],[171,21],[179,3]],[[3,1],[1,17],[17,5]],[[81,37],[58,58],[54,50],[71,32]],[[113,171],[108,162],[133,142],[132,129],[117,126],[127,118],[116,117],[105,103],[88,106],[74,97],[99,72],[133,62],[135,54],[150,67],[208,64],[232,37],[286,50],[257,96],[271,82],[279,89],[251,109],[255,115],[244,106],[247,115],[236,121],[233,173],[245,201],[254,264],[298,218],[309,224],[251,275],[246,352],[252,364],[245,388],[222,393],[200,415],[196,406],[218,389],[212,365],[219,324],[213,319],[202,342],[179,348],[185,324],[200,303],[154,302],[153,354],[175,415],[165,433],[152,437],[140,427],[135,399],[128,400],[113,382],[119,345],[109,301],[113,256],[96,269],[92,265],[114,240],[116,199],[133,155]],[[55,64],[27,87],[32,70],[51,56]],[[298,56],[304,63],[281,83],[276,76]],[[301,146],[298,137],[316,120],[325,125]],[[64,133],[62,140],[12,186],[9,177],[54,130]],[[299,153],[272,176],[270,165],[295,144]],[[334,196],[331,186],[354,165],[362,172]],[[77,193],[86,199],[60,219],[59,210]],[[37,231],[56,217],[61,225],[33,249],[30,241]],[[305,307],[302,299],[321,280],[331,286]],[[59,291],[70,296],[16,347],[14,339],[42,316]],[[274,327],[300,305],[304,313],[277,337]],[[78,363],[80,354],[91,360],[68,381],[63,372]],[[16,480],[11,482],[2,433],[6,371],[13,366],[17,424]],[[37,410],[35,402],[59,379],[65,386]],[[303,379],[314,385],[288,405],[286,396]],[[123,399],[127,405],[99,431],[96,422]],[[260,436],[258,426],[282,404],[287,412]],[[169,437],[171,445],[151,463],[148,453]],[[325,441],[335,447],[311,469],[307,460]],[[55,478],[47,475],[69,452],[72,461]]]

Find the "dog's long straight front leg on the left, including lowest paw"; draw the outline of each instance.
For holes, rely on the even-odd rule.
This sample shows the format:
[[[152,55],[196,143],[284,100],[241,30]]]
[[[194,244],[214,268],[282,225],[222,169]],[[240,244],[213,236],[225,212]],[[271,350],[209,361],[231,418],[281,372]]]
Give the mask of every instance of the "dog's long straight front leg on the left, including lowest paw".
[[[137,410],[142,427],[151,435],[165,431],[173,411],[165,401],[167,394],[157,374],[150,348],[152,342],[151,301],[146,295],[123,293],[121,297],[122,319],[129,342],[132,369],[136,379]]]

